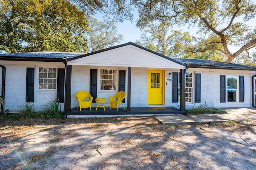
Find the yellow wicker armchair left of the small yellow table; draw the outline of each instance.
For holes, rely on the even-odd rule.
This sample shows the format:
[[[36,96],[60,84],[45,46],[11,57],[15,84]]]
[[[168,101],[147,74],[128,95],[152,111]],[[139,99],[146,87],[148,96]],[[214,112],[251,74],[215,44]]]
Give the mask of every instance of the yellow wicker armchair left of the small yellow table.
[[[80,111],[82,108],[86,109],[89,107],[91,109],[93,97],[90,95],[89,92],[82,91],[82,90],[78,91],[76,92],[76,98],[78,100],[77,109],[78,107],[80,107]]]

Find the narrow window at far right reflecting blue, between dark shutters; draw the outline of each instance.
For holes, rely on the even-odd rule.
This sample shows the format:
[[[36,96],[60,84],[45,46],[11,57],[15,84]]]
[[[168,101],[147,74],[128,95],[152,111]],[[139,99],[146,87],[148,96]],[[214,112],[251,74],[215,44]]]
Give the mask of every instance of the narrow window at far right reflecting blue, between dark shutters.
[[[237,102],[237,76],[227,76],[228,102]]]

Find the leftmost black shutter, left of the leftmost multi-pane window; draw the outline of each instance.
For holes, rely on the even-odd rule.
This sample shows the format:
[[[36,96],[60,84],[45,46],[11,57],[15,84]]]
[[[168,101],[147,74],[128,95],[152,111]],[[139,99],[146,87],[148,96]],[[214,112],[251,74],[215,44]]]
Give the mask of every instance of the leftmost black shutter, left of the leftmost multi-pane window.
[[[27,68],[26,102],[34,102],[34,73],[35,68]]]

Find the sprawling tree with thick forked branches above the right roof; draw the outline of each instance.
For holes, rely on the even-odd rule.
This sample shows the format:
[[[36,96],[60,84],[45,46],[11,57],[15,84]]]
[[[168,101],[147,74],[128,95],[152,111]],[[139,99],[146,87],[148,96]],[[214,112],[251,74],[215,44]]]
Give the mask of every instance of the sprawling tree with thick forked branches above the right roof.
[[[220,51],[230,63],[255,47],[255,28],[245,24],[256,15],[256,4],[251,0],[139,0],[134,3],[139,12],[137,26],[141,29],[152,22],[196,25],[198,40],[193,52]],[[236,51],[231,53],[231,48]]]

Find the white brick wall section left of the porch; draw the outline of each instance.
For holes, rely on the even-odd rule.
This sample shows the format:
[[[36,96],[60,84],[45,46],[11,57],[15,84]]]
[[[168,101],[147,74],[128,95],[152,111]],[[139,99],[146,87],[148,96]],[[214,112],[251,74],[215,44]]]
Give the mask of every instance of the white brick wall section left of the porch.
[[[7,63],[7,62],[6,62]],[[56,96],[56,90],[48,92],[39,92],[38,89],[38,77],[36,69],[38,66],[57,66],[58,68],[64,68],[63,63],[49,63],[49,62],[15,62],[10,61],[7,64],[2,64],[6,67],[6,86],[5,86],[5,109],[9,109],[11,112],[21,111],[26,104],[26,71],[28,67],[35,68],[34,77],[34,107],[36,110],[42,109],[47,102],[52,100]],[[13,64],[12,64],[13,63]],[[37,64],[37,65],[35,65]],[[2,73],[1,73],[2,76]],[[0,79],[1,80],[1,79]],[[40,94],[43,94],[40,96]],[[47,99],[41,99],[42,96],[47,94]],[[44,102],[41,102],[44,100]],[[60,108],[64,109],[62,103]]]

